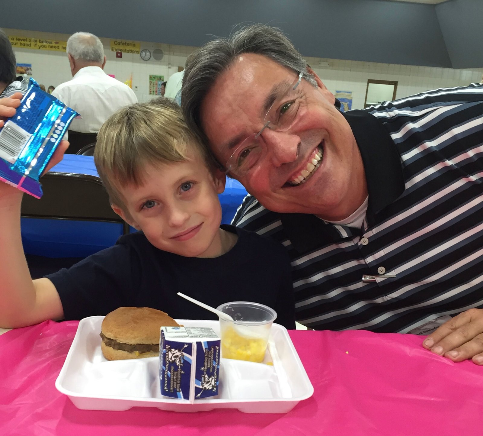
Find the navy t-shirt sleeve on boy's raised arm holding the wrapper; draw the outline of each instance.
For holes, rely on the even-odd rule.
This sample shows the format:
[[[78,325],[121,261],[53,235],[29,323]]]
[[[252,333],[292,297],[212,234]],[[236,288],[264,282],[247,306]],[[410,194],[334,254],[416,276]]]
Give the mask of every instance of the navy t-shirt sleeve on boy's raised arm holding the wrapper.
[[[65,320],[81,320],[132,305],[133,281],[139,271],[132,247],[116,244],[46,277],[57,289]]]

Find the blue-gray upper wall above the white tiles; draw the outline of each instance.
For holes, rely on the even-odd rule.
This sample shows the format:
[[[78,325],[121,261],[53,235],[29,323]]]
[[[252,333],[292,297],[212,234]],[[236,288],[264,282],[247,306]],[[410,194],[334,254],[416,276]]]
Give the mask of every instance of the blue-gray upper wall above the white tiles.
[[[447,8],[446,4],[454,4]],[[421,4],[386,0],[22,0],[3,7],[0,27],[42,32],[92,32],[99,37],[199,46],[239,23],[280,27],[305,56],[428,67],[483,66],[483,1]],[[463,28],[449,25],[465,14]],[[440,22],[439,18],[443,19]],[[443,25],[444,23],[444,25]],[[456,31],[455,31],[456,30]],[[449,53],[446,43],[454,40]],[[458,65],[451,55],[458,55]]]

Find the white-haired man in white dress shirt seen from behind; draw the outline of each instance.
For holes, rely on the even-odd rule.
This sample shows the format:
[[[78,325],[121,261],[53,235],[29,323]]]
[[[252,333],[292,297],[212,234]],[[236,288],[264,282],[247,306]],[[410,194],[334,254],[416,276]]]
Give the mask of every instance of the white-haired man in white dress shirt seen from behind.
[[[67,41],[67,56],[72,79],[60,84],[52,95],[78,112],[82,118],[72,120],[69,136],[70,152],[82,144],[75,144],[78,133],[96,134],[104,121],[121,107],[138,101],[130,87],[104,73],[106,57],[99,38],[92,33],[77,32]],[[86,138],[95,135],[86,135]],[[84,142],[94,142],[87,139]]]

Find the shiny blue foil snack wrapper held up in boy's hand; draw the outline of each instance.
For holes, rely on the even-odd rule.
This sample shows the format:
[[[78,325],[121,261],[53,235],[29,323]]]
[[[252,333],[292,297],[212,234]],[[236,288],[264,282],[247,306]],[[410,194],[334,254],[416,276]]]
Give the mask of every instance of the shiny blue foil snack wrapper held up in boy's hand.
[[[76,116],[30,79],[16,114],[0,129],[0,180],[41,198],[39,177]]]

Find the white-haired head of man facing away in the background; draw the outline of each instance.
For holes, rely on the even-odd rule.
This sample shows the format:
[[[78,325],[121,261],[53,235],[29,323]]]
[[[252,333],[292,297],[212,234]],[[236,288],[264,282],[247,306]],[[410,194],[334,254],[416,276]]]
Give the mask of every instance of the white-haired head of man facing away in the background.
[[[67,56],[74,76],[81,68],[104,68],[106,57],[99,38],[92,33],[76,32],[67,40]]]

